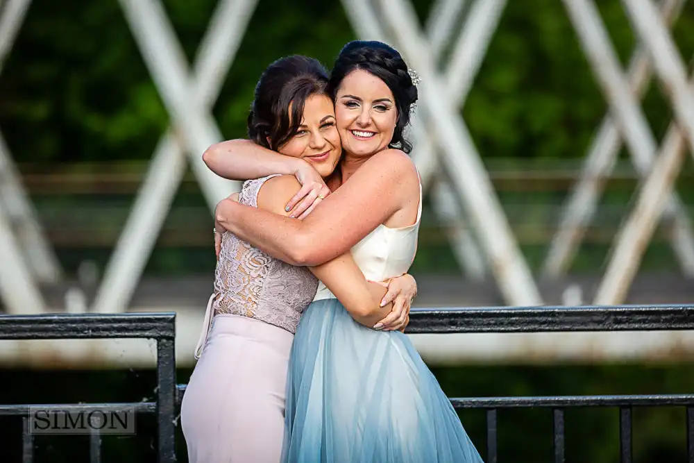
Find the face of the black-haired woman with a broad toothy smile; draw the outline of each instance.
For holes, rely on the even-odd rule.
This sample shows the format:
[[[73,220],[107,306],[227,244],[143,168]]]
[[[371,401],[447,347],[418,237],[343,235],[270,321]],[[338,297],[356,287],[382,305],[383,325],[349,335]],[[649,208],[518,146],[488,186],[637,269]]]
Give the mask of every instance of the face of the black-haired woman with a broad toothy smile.
[[[351,155],[369,156],[388,147],[398,121],[393,92],[380,78],[357,69],[335,95],[335,117],[342,146]]]

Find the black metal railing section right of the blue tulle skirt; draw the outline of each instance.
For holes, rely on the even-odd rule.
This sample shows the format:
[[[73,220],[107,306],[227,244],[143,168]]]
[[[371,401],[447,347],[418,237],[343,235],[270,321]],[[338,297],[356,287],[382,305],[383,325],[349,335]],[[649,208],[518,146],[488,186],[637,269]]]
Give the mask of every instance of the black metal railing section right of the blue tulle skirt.
[[[676,331],[694,329],[694,305],[613,307],[466,308],[412,310],[409,333]],[[620,413],[620,462],[632,462],[632,407],[686,407],[688,462],[694,463],[694,394],[651,396],[561,396],[451,398],[457,409],[486,410],[486,463],[497,463],[497,411],[548,408],[554,420],[555,463],[564,463],[564,409],[617,407]]]

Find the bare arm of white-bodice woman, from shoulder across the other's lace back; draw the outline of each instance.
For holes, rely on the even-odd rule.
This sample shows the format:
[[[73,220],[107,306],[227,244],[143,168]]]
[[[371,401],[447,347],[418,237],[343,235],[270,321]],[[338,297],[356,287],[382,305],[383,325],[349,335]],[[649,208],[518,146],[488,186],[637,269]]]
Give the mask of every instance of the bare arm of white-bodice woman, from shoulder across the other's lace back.
[[[217,223],[274,258],[315,266],[349,251],[407,201],[418,201],[419,180],[405,153],[373,155],[303,220],[223,200]]]

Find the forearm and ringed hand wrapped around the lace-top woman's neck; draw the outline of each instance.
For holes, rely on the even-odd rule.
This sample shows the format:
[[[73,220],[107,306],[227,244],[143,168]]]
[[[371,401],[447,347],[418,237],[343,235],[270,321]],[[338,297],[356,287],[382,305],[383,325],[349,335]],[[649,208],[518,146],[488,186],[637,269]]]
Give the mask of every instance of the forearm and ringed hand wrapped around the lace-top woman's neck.
[[[251,140],[226,140],[213,144],[203,153],[203,161],[215,174],[230,180],[246,180],[272,174],[293,175],[302,187],[294,195],[294,201],[287,204],[287,210],[301,219],[318,205],[316,198],[330,195],[325,180],[310,162],[271,151]]]

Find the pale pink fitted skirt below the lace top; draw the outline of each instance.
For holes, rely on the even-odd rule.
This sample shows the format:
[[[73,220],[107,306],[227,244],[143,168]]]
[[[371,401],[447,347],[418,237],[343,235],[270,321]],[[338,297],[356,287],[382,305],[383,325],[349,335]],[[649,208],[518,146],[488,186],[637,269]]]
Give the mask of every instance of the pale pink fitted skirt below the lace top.
[[[190,463],[279,463],[294,335],[219,314],[190,376],[181,426]]]

